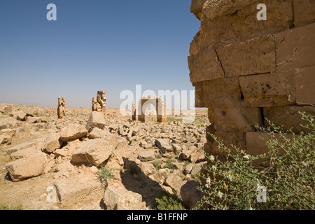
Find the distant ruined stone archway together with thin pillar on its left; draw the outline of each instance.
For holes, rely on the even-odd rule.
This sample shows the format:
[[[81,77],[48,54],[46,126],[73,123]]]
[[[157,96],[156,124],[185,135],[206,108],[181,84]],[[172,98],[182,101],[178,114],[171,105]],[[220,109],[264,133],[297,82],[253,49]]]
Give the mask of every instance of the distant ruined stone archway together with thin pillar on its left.
[[[141,113],[138,112],[138,120],[143,123],[146,122],[146,109],[150,104],[155,106],[158,123],[166,123],[166,104],[164,103],[162,97],[141,97],[139,100],[139,111],[141,111]],[[134,114],[136,114],[136,105],[133,105],[132,120],[134,120]]]

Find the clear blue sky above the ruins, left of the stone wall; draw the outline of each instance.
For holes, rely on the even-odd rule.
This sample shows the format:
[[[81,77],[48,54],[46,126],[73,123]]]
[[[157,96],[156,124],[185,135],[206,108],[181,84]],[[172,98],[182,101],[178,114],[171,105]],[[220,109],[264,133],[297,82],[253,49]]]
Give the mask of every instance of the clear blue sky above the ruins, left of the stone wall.
[[[48,3],[57,21],[48,21]],[[194,90],[188,61],[200,21],[190,0],[1,0],[0,103],[90,107],[106,90]]]

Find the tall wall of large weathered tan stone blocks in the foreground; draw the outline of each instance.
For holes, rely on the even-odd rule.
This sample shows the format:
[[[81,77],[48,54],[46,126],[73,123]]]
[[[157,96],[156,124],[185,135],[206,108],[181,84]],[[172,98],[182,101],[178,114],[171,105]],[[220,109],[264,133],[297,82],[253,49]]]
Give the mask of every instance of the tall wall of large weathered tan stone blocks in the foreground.
[[[259,3],[267,20],[256,17]],[[190,9],[201,22],[190,81],[195,106],[208,108],[207,131],[241,148],[258,141],[265,118],[307,131],[297,111],[315,115],[315,1],[192,0]],[[220,153],[210,137],[204,149]]]

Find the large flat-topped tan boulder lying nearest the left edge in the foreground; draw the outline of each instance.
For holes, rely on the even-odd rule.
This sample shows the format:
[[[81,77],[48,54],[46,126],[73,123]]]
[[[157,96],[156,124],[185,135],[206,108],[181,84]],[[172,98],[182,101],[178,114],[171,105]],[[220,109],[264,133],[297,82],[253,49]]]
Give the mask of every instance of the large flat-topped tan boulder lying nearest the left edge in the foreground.
[[[37,153],[27,158],[9,162],[6,165],[6,170],[13,181],[22,181],[43,174],[46,163],[45,153]]]

